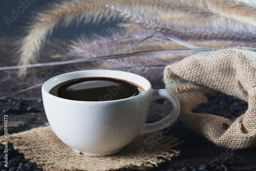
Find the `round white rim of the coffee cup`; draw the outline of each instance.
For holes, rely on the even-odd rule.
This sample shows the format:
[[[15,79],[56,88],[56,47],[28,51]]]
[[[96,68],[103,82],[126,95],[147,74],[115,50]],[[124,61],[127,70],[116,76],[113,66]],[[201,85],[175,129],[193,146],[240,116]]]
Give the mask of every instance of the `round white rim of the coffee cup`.
[[[129,74],[132,74],[136,77],[140,77],[140,79],[143,79],[145,80],[147,83],[148,83],[148,88],[145,89],[144,87],[142,87],[140,84],[139,86],[141,86],[143,89],[145,89],[145,92],[137,95],[137,96],[133,96],[133,97],[128,97],[128,98],[123,98],[123,99],[117,99],[117,100],[107,100],[107,101],[81,101],[81,100],[71,100],[71,99],[65,99],[65,98],[61,98],[61,97],[57,97],[57,96],[54,96],[52,94],[50,94],[48,91],[45,90],[45,87],[47,86],[47,84],[50,82],[50,81],[54,81],[56,80],[57,78],[59,77],[63,77],[65,75],[68,75],[68,74],[75,74],[75,73],[83,73],[83,72],[92,72],[92,71],[96,71],[96,72],[104,72],[104,71],[108,71],[108,72],[121,72],[121,73],[129,73]],[[84,77],[87,77],[87,76],[84,76]],[[90,76],[88,76],[90,77]],[[102,76],[104,77],[104,76]],[[115,77],[115,76],[108,76],[108,77],[112,77],[112,78],[118,78],[118,77]],[[82,78],[82,77],[75,77],[75,78]],[[75,79],[75,78],[71,78],[71,79]],[[70,80],[70,79],[67,79],[67,80]],[[130,81],[130,80],[129,80]],[[63,82],[63,81],[62,81]],[[133,80],[131,80],[131,82],[134,82]],[[60,82],[59,82],[60,83]],[[136,83],[136,82],[134,82]],[[57,83],[58,84],[58,83]],[[54,84],[54,86],[56,86],[57,84]],[[136,83],[138,84],[138,83]],[[54,86],[52,86],[51,88],[53,88]],[[140,98],[141,96],[144,96],[145,94],[147,94],[150,90],[152,90],[152,85],[150,83],[150,81],[148,81],[146,78],[138,75],[138,74],[134,74],[134,73],[131,73],[131,72],[126,72],[126,71],[119,71],[119,70],[82,70],[82,71],[73,71],[73,72],[68,72],[68,73],[64,73],[64,74],[60,74],[60,75],[56,75],[50,79],[48,79],[47,81],[44,82],[44,84],[42,84],[42,88],[41,88],[41,91],[42,92],[45,92],[47,95],[53,97],[53,98],[56,98],[58,100],[63,100],[63,101],[72,101],[72,102],[81,102],[81,103],[88,103],[88,102],[92,102],[92,103],[97,103],[97,102],[117,102],[117,101],[124,101],[124,100],[127,100],[127,99],[135,99],[135,98]]]

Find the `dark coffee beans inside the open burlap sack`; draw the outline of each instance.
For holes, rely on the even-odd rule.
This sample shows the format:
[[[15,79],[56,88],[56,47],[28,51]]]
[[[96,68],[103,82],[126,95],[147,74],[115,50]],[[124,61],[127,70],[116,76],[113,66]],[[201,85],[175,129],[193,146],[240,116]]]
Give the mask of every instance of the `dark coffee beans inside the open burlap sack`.
[[[192,112],[218,115],[234,121],[243,115],[247,108],[247,102],[224,93],[219,93],[217,97],[210,97],[207,103],[200,103]],[[222,127],[227,130],[228,124],[223,123]]]

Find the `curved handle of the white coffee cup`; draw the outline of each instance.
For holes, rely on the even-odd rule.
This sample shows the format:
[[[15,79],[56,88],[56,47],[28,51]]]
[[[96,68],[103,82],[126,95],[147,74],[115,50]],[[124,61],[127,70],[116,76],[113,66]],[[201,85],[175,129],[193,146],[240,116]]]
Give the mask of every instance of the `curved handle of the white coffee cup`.
[[[166,117],[157,122],[144,123],[139,135],[153,133],[165,129],[165,127],[168,127],[174,123],[178,118],[180,114],[180,101],[174,93],[166,89],[153,90],[152,101],[157,99],[167,99],[172,103],[173,109]]]

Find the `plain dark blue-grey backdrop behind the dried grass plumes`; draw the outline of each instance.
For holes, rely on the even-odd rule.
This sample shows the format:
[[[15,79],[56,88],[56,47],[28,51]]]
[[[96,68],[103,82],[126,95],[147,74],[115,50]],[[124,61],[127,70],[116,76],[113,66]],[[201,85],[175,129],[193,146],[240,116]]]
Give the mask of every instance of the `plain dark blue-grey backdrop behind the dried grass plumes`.
[[[32,22],[35,12],[42,11],[47,7],[47,4],[52,2],[53,0],[0,0],[0,37],[26,35],[26,26]],[[18,15],[15,15],[15,12]],[[52,38],[74,39],[77,35],[90,34],[91,32],[104,34],[106,28],[112,28],[117,23],[114,21],[99,24],[98,27],[88,24],[58,28],[58,30],[54,30]]]

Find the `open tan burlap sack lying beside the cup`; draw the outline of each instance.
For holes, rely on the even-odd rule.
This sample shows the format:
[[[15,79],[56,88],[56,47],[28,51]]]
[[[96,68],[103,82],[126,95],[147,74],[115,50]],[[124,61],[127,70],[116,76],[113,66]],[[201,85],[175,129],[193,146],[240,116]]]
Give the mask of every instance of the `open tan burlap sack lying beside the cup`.
[[[226,49],[186,57],[165,68],[164,83],[179,97],[179,119],[190,129],[228,148],[255,145],[256,52]],[[192,113],[199,103],[207,102],[211,90],[245,100],[246,113],[234,122],[221,116]],[[227,130],[222,128],[223,123],[229,125]]]

